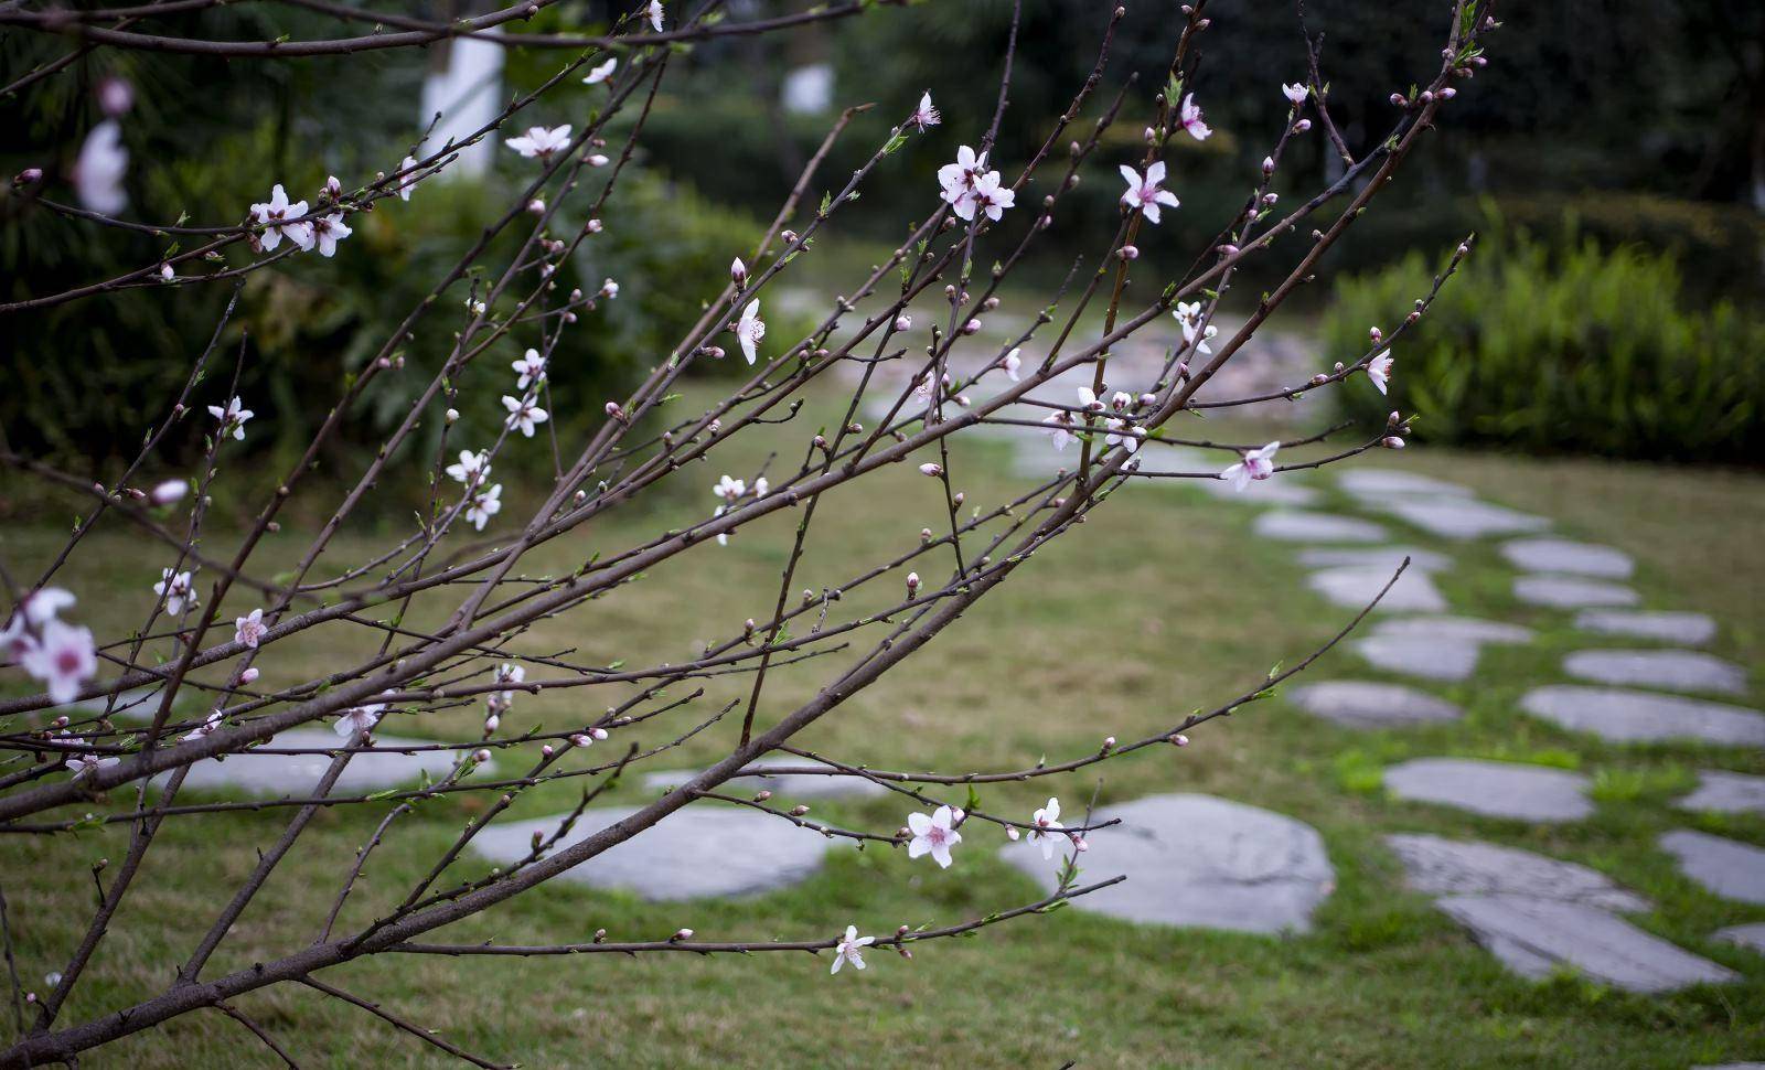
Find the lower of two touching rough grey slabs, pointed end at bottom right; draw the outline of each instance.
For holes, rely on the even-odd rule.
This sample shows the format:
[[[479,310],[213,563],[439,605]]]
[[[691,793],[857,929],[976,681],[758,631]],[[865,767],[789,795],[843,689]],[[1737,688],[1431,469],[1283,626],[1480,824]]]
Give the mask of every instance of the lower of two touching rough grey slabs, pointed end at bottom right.
[[[1525,895],[1447,895],[1435,902],[1514,973],[1543,980],[1562,966],[1631,992],[1739,980],[1733,969],[1650,936],[1603,909]]]

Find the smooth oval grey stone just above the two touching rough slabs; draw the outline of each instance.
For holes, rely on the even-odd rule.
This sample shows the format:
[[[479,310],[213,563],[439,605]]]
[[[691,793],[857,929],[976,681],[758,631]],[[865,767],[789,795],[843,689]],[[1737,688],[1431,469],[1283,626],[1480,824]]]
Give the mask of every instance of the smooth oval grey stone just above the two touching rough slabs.
[[[1521,821],[1587,818],[1587,786],[1581,773],[1470,757],[1417,757],[1386,770],[1386,789],[1398,798]]]

